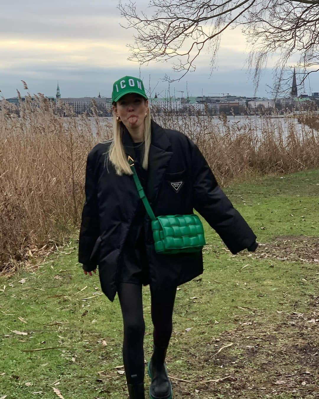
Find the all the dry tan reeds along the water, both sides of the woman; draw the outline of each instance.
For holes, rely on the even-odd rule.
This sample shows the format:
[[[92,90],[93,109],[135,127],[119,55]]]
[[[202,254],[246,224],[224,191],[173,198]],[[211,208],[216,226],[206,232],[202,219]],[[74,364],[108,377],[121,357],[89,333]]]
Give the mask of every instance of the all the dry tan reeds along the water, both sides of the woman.
[[[25,82],[23,82],[25,84]],[[25,84],[24,88],[27,89]],[[18,97],[20,93],[18,92]],[[63,245],[79,227],[87,153],[111,135],[93,103],[92,116],[30,93],[20,105],[3,100],[0,111],[0,271],[34,262],[39,249]],[[20,97],[21,100],[21,97]],[[59,116],[61,110],[69,118]],[[19,117],[18,117],[18,115]],[[276,130],[269,117],[258,132],[252,120],[239,127],[221,115],[177,119],[153,115],[164,127],[187,134],[201,149],[221,185],[234,180],[319,166],[319,136],[305,126]],[[318,123],[318,115],[309,115]],[[288,122],[289,123],[289,122]],[[92,129],[96,132],[93,134]]]

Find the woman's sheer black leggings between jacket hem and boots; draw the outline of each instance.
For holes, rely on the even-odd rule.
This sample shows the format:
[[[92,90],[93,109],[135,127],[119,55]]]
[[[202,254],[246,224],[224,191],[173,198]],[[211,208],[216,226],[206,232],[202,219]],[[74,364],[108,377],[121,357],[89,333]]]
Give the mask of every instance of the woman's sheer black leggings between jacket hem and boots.
[[[173,330],[173,307],[176,288],[151,292],[151,316],[156,346],[168,346]],[[142,284],[122,282],[118,286],[122,309],[124,338],[123,362],[126,381],[130,384],[144,381],[144,333]]]

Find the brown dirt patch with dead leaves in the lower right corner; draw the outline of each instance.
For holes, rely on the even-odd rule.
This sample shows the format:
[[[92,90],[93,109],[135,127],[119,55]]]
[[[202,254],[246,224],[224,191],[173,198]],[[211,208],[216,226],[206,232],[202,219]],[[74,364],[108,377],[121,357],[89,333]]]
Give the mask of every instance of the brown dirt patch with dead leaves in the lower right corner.
[[[309,297],[305,313],[281,314],[279,323],[258,316],[256,309],[254,316],[240,318],[238,328],[224,331],[204,352],[185,350],[194,369],[211,364],[220,370],[217,381],[197,383],[200,397],[319,397],[319,297]],[[178,387],[187,396],[189,383],[178,381]]]

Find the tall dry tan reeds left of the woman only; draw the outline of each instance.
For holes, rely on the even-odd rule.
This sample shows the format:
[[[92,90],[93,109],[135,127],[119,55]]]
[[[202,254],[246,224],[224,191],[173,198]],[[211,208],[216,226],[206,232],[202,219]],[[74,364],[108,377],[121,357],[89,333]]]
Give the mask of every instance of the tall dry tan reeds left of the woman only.
[[[109,131],[95,117],[94,137],[91,119],[61,118],[41,94],[33,101],[27,95],[19,107],[3,100],[1,108],[0,271],[6,271],[32,263],[44,245],[50,251],[64,244],[79,227],[86,156]]]

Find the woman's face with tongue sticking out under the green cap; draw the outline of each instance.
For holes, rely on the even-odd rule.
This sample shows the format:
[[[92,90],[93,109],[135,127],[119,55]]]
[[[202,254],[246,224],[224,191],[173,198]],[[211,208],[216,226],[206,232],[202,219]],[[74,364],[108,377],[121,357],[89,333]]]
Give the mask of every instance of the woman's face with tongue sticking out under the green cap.
[[[119,116],[124,125],[131,129],[138,128],[144,123],[147,110],[148,100],[135,93],[126,94],[113,105],[115,115]]]

